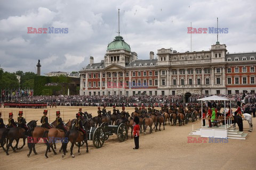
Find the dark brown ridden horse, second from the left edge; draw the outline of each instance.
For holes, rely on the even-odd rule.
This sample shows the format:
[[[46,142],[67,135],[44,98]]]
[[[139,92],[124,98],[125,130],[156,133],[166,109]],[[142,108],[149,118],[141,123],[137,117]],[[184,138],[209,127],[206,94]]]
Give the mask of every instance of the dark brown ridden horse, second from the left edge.
[[[29,127],[29,131],[33,130],[36,127],[36,122],[37,121],[30,121],[28,123],[28,127]],[[16,152],[15,148],[20,150],[25,146],[25,141],[26,141],[26,132],[25,129],[23,128],[11,128],[6,135],[6,138],[10,141],[7,149],[6,149],[6,155],[9,155],[8,150],[11,147],[13,149],[14,152]],[[19,143],[19,139],[22,138],[23,139],[23,145],[18,148],[18,143]],[[12,146],[12,142],[16,141],[16,146],[13,148]]]

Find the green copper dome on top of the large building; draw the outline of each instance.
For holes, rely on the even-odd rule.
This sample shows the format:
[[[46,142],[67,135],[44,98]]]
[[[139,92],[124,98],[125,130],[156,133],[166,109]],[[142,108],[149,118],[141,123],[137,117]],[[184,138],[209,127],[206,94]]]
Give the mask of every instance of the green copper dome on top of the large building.
[[[116,36],[114,41],[108,44],[107,50],[115,50],[115,49],[125,49],[131,52],[130,46],[127,43],[125,43],[122,36]]]

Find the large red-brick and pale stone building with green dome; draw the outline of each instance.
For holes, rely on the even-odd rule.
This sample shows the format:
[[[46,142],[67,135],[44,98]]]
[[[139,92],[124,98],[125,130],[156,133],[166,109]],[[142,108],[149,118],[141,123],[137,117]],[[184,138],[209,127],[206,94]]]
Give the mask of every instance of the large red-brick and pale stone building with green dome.
[[[255,92],[256,53],[229,54],[225,44],[202,52],[158,49],[138,60],[123,37],[108,44],[104,60],[84,67],[80,95],[185,95]]]

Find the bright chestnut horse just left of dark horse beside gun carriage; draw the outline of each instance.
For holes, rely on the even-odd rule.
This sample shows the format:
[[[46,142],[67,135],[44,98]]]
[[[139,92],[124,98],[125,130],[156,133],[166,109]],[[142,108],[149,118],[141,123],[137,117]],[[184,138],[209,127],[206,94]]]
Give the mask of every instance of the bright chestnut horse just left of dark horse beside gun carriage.
[[[71,126],[70,120],[68,121],[66,126],[67,126],[67,129],[69,130],[69,128]],[[43,134],[43,137],[47,138],[47,140],[48,140],[48,141],[46,141],[47,149],[45,152],[45,158],[48,158],[47,152],[50,149],[50,147],[52,148],[54,155],[57,154],[57,152],[55,152],[55,150],[53,149],[53,143],[55,142],[55,140],[61,140],[61,142],[62,142],[62,140],[65,138],[65,132],[61,129],[52,128],[52,129],[49,129],[48,131],[45,131]],[[61,149],[60,149],[60,151],[61,151]]]

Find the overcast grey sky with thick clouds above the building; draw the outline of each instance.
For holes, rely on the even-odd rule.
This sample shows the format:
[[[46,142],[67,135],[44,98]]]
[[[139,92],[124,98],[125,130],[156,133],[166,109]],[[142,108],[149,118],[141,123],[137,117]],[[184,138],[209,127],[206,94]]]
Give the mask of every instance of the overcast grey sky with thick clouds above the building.
[[[4,71],[78,71],[103,60],[107,45],[117,36],[118,8],[121,36],[138,54],[170,48],[190,51],[187,27],[228,28],[220,44],[228,52],[256,50],[256,2],[251,1],[0,1],[0,65]],[[68,28],[64,34],[29,34],[27,27]],[[48,32],[48,31],[47,31]],[[211,33],[193,34],[194,51],[209,50],[217,41]]]

